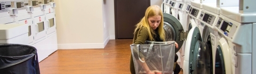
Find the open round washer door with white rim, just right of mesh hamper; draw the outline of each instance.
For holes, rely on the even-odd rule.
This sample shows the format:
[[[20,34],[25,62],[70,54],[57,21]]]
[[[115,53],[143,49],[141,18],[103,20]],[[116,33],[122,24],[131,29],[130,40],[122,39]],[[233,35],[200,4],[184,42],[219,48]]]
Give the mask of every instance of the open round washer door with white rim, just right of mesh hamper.
[[[198,27],[192,27],[189,32],[185,51],[189,52],[189,56],[185,57],[189,59],[189,73],[212,73],[212,51],[205,42],[202,42]]]

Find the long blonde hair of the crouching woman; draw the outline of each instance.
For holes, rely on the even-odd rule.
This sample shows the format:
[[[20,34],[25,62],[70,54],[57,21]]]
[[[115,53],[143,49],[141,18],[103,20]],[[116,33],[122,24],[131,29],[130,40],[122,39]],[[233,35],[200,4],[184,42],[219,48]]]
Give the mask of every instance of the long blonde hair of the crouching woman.
[[[136,28],[134,30],[134,34],[138,29],[141,29],[142,26],[146,27],[148,30],[148,36],[149,36],[149,40],[150,41],[155,41],[155,39],[153,38],[153,36],[156,34],[154,32],[154,30],[150,27],[149,23],[148,23],[148,18],[149,17],[153,17],[155,15],[159,15],[161,16],[161,22],[158,26],[158,33],[160,36],[160,39],[165,41],[165,31],[164,31],[164,27],[163,27],[163,22],[164,22],[164,16],[161,10],[161,7],[157,6],[157,5],[153,5],[153,6],[149,6],[146,10],[145,16],[141,19],[141,21],[136,25]]]

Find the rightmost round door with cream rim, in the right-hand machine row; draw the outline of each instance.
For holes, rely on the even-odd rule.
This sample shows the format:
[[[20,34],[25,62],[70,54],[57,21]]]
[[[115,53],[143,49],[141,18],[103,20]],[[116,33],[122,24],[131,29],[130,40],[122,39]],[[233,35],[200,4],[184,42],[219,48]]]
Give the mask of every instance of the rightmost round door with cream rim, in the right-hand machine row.
[[[231,54],[232,51],[229,49],[229,45],[225,38],[221,38],[218,41],[218,46],[215,56],[215,70],[216,74],[231,74]]]

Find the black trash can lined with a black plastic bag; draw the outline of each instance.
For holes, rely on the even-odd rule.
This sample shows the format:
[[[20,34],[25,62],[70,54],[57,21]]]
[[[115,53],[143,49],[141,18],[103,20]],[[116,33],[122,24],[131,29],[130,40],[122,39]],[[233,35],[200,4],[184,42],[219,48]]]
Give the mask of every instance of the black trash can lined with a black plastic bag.
[[[0,73],[39,74],[36,48],[21,44],[0,44]]]

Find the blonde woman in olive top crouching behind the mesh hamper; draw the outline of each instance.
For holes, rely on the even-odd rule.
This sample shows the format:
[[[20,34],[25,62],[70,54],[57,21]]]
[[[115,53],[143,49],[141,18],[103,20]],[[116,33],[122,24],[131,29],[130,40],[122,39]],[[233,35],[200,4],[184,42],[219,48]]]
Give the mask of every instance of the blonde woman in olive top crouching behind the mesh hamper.
[[[165,31],[163,29],[163,13],[161,7],[157,5],[149,6],[146,10],[145,16],[136,25],[134,30],[134,44],[144,44],[146,40],[148,41],[165,41]],[[175,48],[178,48],[178,44],[175,42]],[[142,59],[143,60],[143,59]],[[139,62],[142,68],[147,72],[147,74],[154,74],[147,67],[145,62]],[[130,71],[135,74],[133,58],[131,55],[130,60]]]

